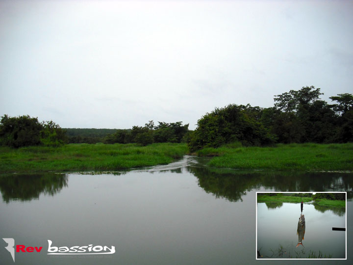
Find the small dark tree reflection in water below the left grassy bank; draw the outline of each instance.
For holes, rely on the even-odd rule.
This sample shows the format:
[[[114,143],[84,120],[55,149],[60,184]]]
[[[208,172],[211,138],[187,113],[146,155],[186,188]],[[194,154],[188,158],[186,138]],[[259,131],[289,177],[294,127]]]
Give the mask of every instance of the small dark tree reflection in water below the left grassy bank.
[[[41,193],[53,196],[68,186],[65,174],[16,174],[0,177],[0,191],[4,202],[30,201],[38,199]]]

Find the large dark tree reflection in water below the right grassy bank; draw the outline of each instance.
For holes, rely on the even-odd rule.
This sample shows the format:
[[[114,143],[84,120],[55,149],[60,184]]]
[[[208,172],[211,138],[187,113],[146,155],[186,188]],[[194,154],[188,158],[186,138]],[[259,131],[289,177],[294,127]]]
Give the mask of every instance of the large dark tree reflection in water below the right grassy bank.
[[[187,167],[199,179],[199,185],[217,198],[239,201],[254,188],[276,191],[347,191],[352,198],[353,174],[328,172],[237,171],[207,167]]]

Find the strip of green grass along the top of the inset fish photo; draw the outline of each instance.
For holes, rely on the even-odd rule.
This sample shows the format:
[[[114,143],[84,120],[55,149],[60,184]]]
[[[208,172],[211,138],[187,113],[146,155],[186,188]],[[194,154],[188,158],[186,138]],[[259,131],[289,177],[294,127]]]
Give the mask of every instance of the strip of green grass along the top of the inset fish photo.
[[[281,202],[281,203],[304,203],[312,201],[311,197],[297,197],[297,196],[286,196],[286,195],[259,195],[257,194],[257,202]],[[315,204],[327,207],[345,208],[346,202],[341,200],[327,200],[327,199],[316,199]]]

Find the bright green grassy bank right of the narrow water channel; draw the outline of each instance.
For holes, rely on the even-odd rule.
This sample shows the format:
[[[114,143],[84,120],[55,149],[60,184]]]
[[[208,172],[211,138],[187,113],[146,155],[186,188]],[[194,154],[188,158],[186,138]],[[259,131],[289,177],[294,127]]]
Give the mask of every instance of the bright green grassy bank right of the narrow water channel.
[[[274,147],[205,148],[198,156],[213,156],[208,165],[219,168],[335,171],[353,170],[353,143],[277,144]]]

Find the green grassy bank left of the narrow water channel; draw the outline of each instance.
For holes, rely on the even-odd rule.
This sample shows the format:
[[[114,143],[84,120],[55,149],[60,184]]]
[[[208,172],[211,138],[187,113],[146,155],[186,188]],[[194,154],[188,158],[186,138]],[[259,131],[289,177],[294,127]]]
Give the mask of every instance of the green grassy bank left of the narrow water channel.
[[[0,147],[0,172],[120,170],[168,164],[186,144],[68,144],[62,147]]]

